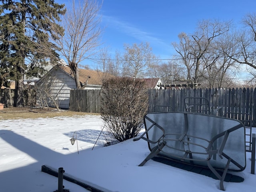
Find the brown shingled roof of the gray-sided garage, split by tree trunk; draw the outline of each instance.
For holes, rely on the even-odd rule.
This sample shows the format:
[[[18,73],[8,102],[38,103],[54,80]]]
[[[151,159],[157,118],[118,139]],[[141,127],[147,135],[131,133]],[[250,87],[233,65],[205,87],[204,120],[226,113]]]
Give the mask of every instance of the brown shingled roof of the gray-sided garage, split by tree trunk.
[[[74,75],[69,66],[58,66],[64,70],[67,74],[74,78]],[[102,85],[103,73],[94,70],[78,69],[79,70],[79,81],[81,84],[86,84],[88,80],[88,85]]]

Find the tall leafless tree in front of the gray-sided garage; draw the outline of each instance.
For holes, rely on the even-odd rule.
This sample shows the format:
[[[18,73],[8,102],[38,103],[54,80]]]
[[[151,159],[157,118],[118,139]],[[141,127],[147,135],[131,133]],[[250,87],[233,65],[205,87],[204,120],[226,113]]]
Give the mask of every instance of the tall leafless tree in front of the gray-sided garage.
[[[67,9],[62,22],[65,34],[60,32],[62,37],[53,39],[67,60],[78,89],[81,88],[78,65],[95,54],[100,45],[100,8],[97,0],[73,0],[71,9]]]

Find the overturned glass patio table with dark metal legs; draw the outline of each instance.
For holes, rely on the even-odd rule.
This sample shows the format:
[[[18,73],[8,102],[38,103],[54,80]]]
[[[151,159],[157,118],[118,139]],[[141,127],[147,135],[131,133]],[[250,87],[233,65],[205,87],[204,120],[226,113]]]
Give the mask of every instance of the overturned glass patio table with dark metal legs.
[[[245,128],[238,120],[189,112],[155,112],[144,116],[144,125],[146,132],[134,141],[146,140],[150,154],[139,166],[160,156],[207,167],[220,180],[220,190],[224,190],[228,171],[240,172],[246,167]]]

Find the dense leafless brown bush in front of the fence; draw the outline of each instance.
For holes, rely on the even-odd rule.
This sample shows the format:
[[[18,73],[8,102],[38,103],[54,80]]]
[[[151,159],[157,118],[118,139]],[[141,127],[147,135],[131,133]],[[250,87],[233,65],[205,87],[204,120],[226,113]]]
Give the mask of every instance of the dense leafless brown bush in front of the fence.
[[[148,110],[148,88],[141,79],[113,77],[102,84],[101,116],[107,134],[122,142],[138,135]]]

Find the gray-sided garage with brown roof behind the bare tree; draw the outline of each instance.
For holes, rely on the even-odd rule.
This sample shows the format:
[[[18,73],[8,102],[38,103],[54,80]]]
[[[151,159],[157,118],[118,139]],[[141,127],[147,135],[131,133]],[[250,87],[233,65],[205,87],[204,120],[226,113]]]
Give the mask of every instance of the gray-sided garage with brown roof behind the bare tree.
[[[102,72],[79,69],[79,80],[83,89],[101,89]],[[68,66],[54,66],[44,77],[36,83],[37,104],[39,106],[68,109],[70,89],[76,89],[76,82]]]

